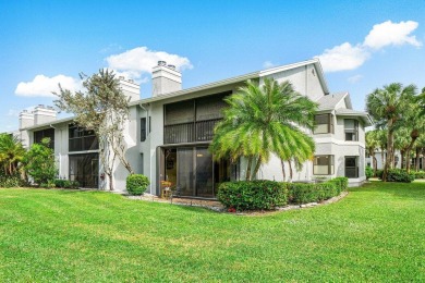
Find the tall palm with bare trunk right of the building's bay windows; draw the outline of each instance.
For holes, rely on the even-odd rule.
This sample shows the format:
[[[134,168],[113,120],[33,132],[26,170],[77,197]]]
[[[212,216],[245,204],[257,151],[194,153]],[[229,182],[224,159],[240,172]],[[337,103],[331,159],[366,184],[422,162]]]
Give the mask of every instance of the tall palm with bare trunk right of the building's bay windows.
[[[398,127],[403,124],[403,112],[408,101],[416,94],[416,87],[410,85],[403,87],[402,84],[392,83],[377,88],[366,97],[366,108],[376,125],[388,131],[387,135],[387,161],[384,167],[382,181],[387,181],[388,170],[393,164],[393,137]]]

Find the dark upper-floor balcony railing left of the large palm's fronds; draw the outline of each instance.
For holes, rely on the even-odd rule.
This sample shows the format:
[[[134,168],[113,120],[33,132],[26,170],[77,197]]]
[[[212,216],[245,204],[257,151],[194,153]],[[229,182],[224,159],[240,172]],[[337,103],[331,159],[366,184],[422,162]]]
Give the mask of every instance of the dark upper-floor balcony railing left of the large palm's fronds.
[[[214,127],[221,119],[166,125],[163,127],[163,144],[183,144],[209,142],[214,136]]]

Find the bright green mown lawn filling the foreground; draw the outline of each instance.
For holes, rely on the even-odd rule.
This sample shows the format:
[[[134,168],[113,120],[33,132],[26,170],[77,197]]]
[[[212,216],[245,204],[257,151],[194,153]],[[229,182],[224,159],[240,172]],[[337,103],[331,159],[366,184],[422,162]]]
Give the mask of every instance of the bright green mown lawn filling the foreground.
[[[0,189],[0,282],[425,281],[425,183],[262,217]]]

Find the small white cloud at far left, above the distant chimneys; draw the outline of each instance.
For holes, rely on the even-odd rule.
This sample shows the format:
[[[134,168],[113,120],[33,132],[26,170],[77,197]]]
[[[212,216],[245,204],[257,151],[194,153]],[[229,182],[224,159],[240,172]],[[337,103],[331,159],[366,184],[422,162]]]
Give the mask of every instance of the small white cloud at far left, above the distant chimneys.
[[[15,94],[25,97],[54,97],[52,91],[59,91],[59,84],[71,91],[75,91],[81,87],[81,82],[71,76],[57,75],[48,77],[45,75],[36,75],[32,82],[19,83]]]

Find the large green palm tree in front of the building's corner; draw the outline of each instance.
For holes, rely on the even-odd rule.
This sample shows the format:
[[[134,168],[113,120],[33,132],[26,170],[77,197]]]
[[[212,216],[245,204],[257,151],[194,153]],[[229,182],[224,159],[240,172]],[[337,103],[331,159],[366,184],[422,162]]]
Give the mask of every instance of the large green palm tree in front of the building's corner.
[[[246,180],[255,179],[272,153],[296,162],[313,156],[313,139],[301,127],[314,127],[317,104],[296,93],[291,83],[265,78],[259,86],[247,81],[226,101],[229,107],[215,128],[210,150],[216,159],[246,158]]]

